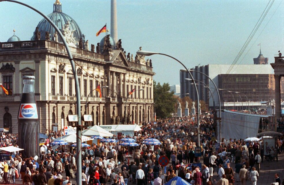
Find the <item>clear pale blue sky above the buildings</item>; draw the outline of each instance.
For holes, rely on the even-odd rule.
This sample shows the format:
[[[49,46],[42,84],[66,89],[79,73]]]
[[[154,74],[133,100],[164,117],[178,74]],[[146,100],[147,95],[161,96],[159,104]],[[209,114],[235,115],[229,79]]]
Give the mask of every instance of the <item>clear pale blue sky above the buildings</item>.
[[[55,0],[21,0],[48,15]],[[273,0],[272,0],[273,1]],[[237,64],[253,64],[261,52],[274,63],[283,50],[284,2],[275,0]],[[100,42],[96,32],[107,23],[110,30],[110,0],[60,0],[62,12],[79,25],[86,40]],[[117,0],[118,39],[126,52],[142,50],[171,55],[187,68],[207,64],[232,64],[255,27],[269,0]],[[0,2],[0,42],[13,35],[30,40],[42,17],[11,2]],[[282,51],[284,52],[284,51]],[[246,54],[247,53],[247,54]],[[246,54],[246,55],[245,55]],[[153,55],[154,80],[179,84],[183,67],[171,58]],[[261,73],[261,71],[260,71]]]

